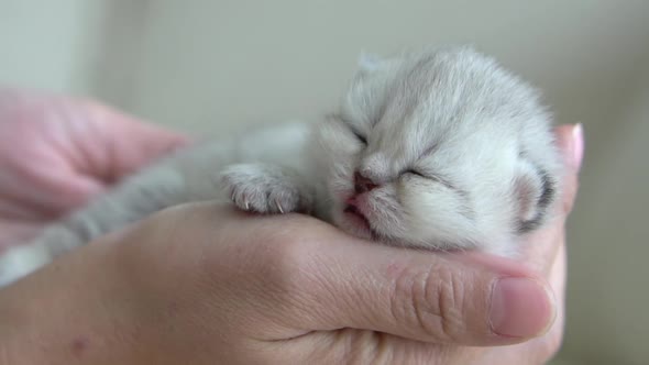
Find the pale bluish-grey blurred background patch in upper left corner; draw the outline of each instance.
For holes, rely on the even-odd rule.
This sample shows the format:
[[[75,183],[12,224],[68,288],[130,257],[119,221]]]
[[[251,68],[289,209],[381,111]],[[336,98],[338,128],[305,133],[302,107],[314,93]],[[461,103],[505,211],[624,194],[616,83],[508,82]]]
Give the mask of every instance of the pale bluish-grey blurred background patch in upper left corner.
[[[0,0],[0,82],[88,93],[102,1]]]

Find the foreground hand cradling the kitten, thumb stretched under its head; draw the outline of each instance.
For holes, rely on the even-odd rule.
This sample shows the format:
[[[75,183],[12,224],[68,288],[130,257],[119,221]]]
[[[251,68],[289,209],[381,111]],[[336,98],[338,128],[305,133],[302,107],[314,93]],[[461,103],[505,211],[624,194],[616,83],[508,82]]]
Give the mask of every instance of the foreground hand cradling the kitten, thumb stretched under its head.
[[[529,239],[522,263],[186,204],[6,288],[12,334],[0,344],[14,364],[543,363],[562,333],[564,222],[581,159],[571,135],[558,129],[559,217]]]

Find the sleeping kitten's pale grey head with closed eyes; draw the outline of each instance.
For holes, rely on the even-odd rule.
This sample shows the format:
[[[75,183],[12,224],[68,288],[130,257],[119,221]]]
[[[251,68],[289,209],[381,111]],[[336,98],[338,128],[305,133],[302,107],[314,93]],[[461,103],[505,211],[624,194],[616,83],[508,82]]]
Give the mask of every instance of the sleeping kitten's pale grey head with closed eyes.
[[[316,136],[331,219],[362,237],[507,253],[556,196],[537,92],[470,48],[363,59]]]

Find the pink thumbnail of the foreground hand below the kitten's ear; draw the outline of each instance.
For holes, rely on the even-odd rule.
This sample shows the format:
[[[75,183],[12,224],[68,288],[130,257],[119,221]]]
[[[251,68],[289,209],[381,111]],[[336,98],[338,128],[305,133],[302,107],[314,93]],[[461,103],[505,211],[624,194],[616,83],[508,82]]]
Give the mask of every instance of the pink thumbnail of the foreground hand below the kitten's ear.
[[[554,321],[553,301],[551,291],[541,283],[528,278],[501,278],[492,291],[492,331],[508,338],[542,334]]]

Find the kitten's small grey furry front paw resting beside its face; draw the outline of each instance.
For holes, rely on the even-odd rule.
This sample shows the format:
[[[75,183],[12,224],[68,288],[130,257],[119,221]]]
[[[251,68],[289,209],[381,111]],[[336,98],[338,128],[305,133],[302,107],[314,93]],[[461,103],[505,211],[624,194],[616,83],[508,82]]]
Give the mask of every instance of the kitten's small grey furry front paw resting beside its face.
[[[310,198],[299,177],[278,166],[240,164],[221,174],[226,193],[239,209],[257,213],[310,210]]]

